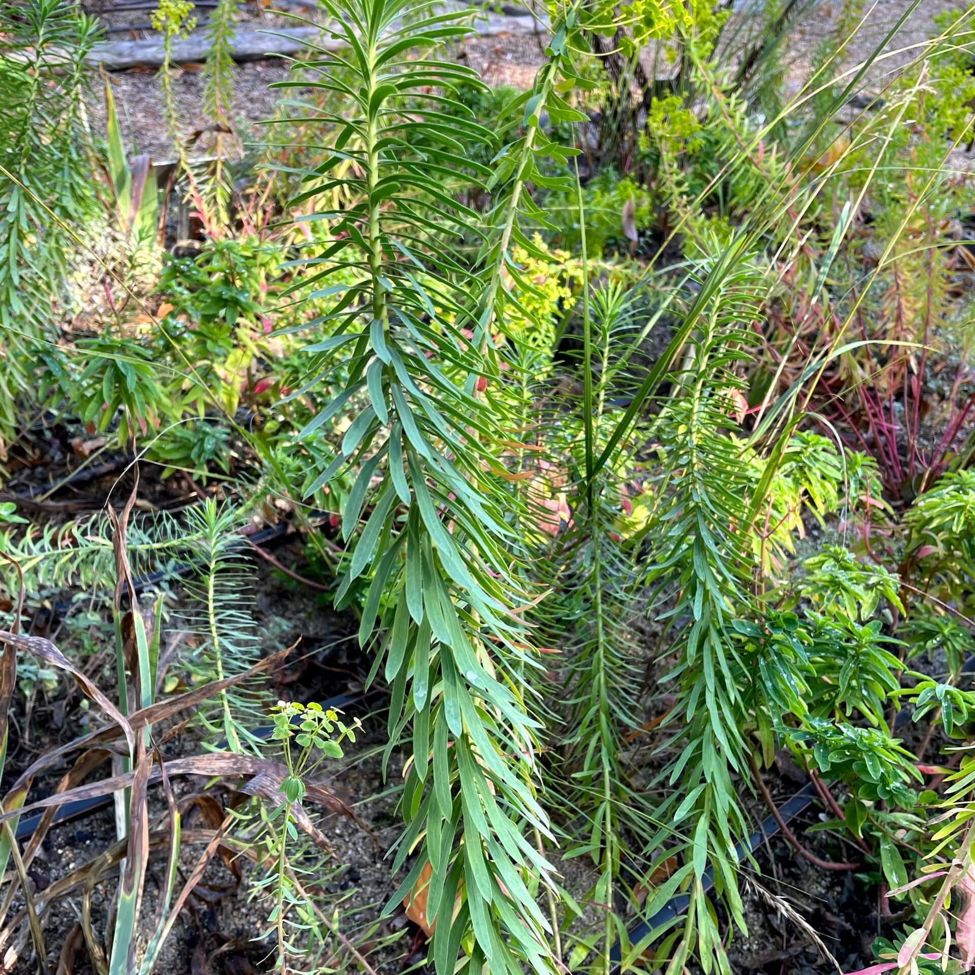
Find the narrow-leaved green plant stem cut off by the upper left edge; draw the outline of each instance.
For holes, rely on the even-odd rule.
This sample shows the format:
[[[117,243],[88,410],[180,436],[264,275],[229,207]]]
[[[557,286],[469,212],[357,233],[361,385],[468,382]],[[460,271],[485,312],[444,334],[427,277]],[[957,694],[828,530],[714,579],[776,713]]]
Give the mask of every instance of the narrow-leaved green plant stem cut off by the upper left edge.
[[[95,20],[56,0],[0,4],[0,459],[16,428],[15,401],[34,385],[38,349],[50,339],[67,287],[74,241],[97,216],[81,124],[86,55]],[[53,216],[53,218],[52,218]],[[61,222],[59,222],[61,221]]]

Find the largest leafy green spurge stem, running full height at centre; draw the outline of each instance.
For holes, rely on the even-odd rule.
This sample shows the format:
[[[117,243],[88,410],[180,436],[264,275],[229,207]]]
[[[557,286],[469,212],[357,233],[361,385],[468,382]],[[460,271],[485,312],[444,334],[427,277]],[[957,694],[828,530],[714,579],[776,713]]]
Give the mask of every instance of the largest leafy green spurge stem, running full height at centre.
[[[393,867],[414,859],[391,903],[429,865],[438,972],[454,970],[461,947],[472,971],[487,964],[518,972],[527,964],[549,972],[549,924],[529,884],[545,882],[550,867],[524,835],[547,835],[548,827],[533,787],[538,722],[516,680],[519,667],[534,662],[513,611],[527,597],[507,552],[507,482],[498,476],[506,420],[489,395],[476,395],[478,377],[497,372],[484,339],[514,219],[498,220],[495,239],[490,221],[485,233],[449,192],[461,183],[483,186],[489,171],[465,156],[465,144],[492,138],[450,98],[457,83],[476,81],[474,73],[431,57],[467,32],[462,17],[430,4],[409,9],[406,0],[327,7],[331,32],[347,49],[323,51],[302,68],[318,72],[311,85],[343,94],[350,111],[333,117],[331,156],[305,176],[307,189],[294,203],[339,184],[362,197],[347,210],[315,215],[332,221],[331,243],[300,287],[336,299],[326,316],[330,337],[310,351],[342,350],[348,378],[304,436],[313,440],[339,409],[351,411],[338,456],[311,490],[347,467],[358,472],[343,534],[361,531],[338,601],[364,594],[362,643],[377,623],[385,630],[374,670],[384,661],[392,683],[387,755],[408,725],[412,731],[407,831]],[[343,161],[354,165],[335,176]],[[524,200],[517,188],[514,195]],[[484,242],[480,277],[451,254],[461,232]],[[330,288],[342,268],[360,274]],[[479,334],[467,331],[472,307],[487,309],[477,318]]]

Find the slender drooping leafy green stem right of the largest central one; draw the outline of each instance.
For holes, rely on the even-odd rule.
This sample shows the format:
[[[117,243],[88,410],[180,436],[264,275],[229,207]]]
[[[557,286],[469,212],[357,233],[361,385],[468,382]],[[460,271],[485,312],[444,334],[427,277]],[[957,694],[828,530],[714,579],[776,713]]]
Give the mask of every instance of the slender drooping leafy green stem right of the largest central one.
[[[702,279],[718,273],[705,262]],[[735,923],[744,927],[737,892],[737,839],[747,818],[732,773],[744,772],[750,747],[741,698],[746,661],[730,639],[752,575],[748,531],[751,493],[748,463],[728,436],[734,421],[731,393],[754,342],[761,273],[747,257],[723,275],[688,338],[688,353],[672,372],[674,392],[663,407],[658,436],[664,457],[654,487],[655,510],[644,529],[650,546],[646,582],[654,597],[672,602],[662,618],[676,618],[678,662],[665,680],[677,683],[668,722],[683,745],[667,768],[681,787],[655,810],[660,824],[651,848],[686,854],[675,878],[692,883],[692,905],[679,953],[693,949],[710,970],[723,949],[701,893],[709,862]],[[661,617],[658,617],[661,618]]]

